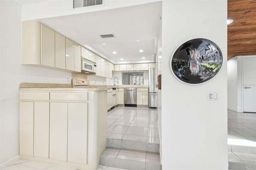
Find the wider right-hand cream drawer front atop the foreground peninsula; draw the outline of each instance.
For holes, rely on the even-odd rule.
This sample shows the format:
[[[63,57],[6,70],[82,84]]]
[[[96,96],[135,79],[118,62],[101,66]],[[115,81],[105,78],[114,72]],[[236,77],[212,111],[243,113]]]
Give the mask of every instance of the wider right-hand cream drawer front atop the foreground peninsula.
[[[50,100],[62,101],[88,101],[88,93],[50,93]]]

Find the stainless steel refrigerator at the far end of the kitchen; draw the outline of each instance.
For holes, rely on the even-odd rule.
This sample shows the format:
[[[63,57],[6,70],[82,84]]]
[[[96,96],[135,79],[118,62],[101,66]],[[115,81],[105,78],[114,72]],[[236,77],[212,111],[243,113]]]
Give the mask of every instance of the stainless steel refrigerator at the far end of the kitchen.
[[[157,75],[156,68],[148,69],[148,107],[157,107]]]

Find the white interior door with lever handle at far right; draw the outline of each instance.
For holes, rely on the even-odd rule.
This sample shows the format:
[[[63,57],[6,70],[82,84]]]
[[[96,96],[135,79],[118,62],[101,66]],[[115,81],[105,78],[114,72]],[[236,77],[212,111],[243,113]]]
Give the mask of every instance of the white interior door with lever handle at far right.
[[[244,112],[256,112],[256,58],[243,58]]]

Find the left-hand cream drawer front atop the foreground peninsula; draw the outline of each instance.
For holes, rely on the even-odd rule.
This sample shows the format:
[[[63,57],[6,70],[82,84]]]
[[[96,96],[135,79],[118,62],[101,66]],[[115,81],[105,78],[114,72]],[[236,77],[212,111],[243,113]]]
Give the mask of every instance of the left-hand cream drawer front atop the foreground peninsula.
[[[20,92],[20,100],[49,100],[49,92]]]

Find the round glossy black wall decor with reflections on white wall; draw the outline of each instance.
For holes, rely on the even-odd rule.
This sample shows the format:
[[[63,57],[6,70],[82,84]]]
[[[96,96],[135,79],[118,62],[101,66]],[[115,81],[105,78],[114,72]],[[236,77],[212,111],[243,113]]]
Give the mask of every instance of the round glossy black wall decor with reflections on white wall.
[[[200,84],[218,73],[222,65],[222,53],[214,42],[197,38],[180,45],[172,55],[170,65],[178,80]]]

